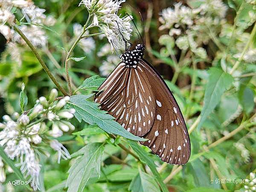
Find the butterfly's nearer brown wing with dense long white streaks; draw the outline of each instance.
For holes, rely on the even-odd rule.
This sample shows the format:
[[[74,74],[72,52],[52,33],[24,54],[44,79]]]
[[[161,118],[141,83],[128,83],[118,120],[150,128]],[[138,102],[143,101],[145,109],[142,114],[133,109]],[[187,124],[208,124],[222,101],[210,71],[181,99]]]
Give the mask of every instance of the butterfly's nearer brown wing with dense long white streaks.
[[[121,62],[102,83],[95,102],[108,111],[126,130],[136,136],[145,135],[154,123],[154,93],[145,71],[125,67]]]

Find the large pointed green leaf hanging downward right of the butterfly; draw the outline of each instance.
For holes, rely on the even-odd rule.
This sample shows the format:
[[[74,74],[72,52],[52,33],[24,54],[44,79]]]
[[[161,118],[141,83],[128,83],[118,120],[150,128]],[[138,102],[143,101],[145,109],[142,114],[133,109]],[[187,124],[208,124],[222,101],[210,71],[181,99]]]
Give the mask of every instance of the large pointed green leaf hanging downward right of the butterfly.
[[[212,112],[221,99],[224,92],[232,85],[233,77],[223,70],[212,67],[208,71],[209,78],[204,94],[204,106],[201,112],[201,119],[197,131],[201,128],[206,117]]]

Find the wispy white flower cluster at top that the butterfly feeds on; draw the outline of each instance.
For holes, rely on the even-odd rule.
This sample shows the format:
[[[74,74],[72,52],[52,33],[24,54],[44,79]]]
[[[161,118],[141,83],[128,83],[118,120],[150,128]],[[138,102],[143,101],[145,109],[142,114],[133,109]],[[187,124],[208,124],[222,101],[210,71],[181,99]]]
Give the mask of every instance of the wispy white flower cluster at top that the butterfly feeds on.
[[[111,43],[111,51],[118,50],[123,47],[125,40],[130,40],[131,19],[132,17],[122,17],[117,15],[120,4],[125,0],[82,0],[83,4],[93,16],[93,25],[99,26],[102,32],[107,36]],[[122,35],[121,35],[121,33]],[[122,37],[123,36],[123,37]]]

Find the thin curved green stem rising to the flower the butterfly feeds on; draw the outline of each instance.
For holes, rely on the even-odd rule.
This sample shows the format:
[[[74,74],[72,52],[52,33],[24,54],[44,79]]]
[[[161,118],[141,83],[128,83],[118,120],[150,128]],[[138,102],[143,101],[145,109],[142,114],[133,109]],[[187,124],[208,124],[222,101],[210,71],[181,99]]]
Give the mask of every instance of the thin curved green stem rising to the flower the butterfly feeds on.
[[[73,50],[75,49],[77,43],[79,42],[79,40],[81,40],[81,37],[83,36],[83,34],[88,30],[90,29],[91,26],[87,27],[87,24],[89,23],[89,20],[90,20],[90,17],[91,15],[89,14],[88,16],[88,19],[84,25],[84,30],[83,32],[79,35],[79,37],[77,38],[76,42],[73,44],[73,46],[71,47],[70,51],[67,53],[67,57],[66,57],[66,60],[65,60],[65,72],[66,72],[66,76],[67,76],[67,83],[68,83],[68,89],[70,91],[70,96],[73,95],[73,91],[72,91],[72,87],[71,87],[71,83],[70,83],[70,77],[69,77],[69,74],[68,74],[68,65],[67,65],[67,62],[68,62],[68,59],[70,58],[70,55],[71,53],[73,52]]]

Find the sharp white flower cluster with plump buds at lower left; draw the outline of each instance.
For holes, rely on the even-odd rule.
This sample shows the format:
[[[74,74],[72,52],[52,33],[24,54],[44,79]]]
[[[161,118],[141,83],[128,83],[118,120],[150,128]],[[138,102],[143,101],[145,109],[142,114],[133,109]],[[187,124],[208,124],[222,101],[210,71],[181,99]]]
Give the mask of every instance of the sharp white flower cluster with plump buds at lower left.
[[[57,138],[63,135],[63,131],[75,129],[70,122],[63,120],[72,118],[75,113],[75,109],[63,109],[69,97],[64,97],[56,103],[54,101],[57,96],[57,90],[52,89],[49,100],[40,97],[38,103],[28,114],[18,117],[19,115],[15,113],[14,116],[18,117],[17,121],[5,115],[3,117],[5,123],[0,123],[0,128],[3,128],[0,132],[0,146],[4,148],[9,158],[19,160],[17,166],[21,166],[20,171],[26,174],[25,176],[30,176],[29,181],[36,181],[36,185],[32,186],[35,190],[39,189],[38,177],[41,166],[39,156],[34,150],[35,147],[40,148],[41,142],[49,144],[53,150],[58,152],[58,163],[61,157],[66,160],[71,158],[61,143],[48,138],[48,136]],[[52,122],[51,130],[46,125],[47,120]],[[41,150],[45,151],[44,148]],[[48,154],[48,152],[45,153]],[[3,162],[0,160],[0,170],[3,167],[1,163]],[[0,176],[2,180],[3,178],[5,180],[5,175]]]

